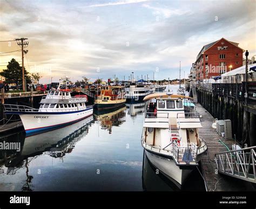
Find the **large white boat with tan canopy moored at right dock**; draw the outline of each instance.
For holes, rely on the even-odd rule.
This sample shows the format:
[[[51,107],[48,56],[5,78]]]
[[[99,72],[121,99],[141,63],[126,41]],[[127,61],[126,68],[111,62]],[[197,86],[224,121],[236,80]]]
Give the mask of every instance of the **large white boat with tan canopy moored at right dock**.
[[[150,162],[177,185],[184,184],[207,150],[199,114],[184,106],[184,95],[155,93],[144,98],[142,146]]]

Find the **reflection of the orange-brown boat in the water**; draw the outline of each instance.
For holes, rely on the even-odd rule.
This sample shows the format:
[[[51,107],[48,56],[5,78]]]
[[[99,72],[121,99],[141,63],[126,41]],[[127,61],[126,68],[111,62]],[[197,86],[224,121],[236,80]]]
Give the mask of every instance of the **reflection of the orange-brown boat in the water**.
[[[120,126],[125,122],[125,110],[126,107],[116,108],[111,110],[95,110],[94,115],[98,121],[101,129],[109,131],[109,134],[112,134],[113,126]]]

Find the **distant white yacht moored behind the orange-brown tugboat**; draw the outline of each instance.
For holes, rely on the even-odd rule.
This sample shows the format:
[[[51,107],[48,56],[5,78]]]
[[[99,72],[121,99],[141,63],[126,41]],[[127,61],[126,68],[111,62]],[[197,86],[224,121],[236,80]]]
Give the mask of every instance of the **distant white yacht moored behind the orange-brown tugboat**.
[[[141,102],[146,95],[154,92],[154,88],[144,83],[131,82],[125,87],[125,98],[128,103]]]

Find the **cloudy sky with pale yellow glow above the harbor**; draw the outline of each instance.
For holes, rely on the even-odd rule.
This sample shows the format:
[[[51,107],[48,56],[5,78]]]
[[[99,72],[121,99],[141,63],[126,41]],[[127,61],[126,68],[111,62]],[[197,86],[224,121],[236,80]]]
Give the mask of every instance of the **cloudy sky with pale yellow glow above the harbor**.
[[[69,76],[182,77],[205,44],[222,37],[256,54],[255,1],[0,0],[0,41],[25,37],[25,67],[42,82]],[[0,42],[0,53],[18,50]],[[0,69],[21,52],[0,54]]]

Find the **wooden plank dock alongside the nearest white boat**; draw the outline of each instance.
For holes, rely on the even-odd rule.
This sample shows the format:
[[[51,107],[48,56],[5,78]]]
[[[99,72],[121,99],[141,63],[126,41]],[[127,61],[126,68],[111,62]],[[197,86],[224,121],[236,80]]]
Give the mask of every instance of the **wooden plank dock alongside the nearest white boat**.
[[[218,142],[221,139],[228,148],[232,149],[234,140],[227,140],[221,137],[216,129],[212,128],[213,116],[207,112],[199,103],[196,104],[196,110],[199,112],[203,128],[199,129],[199,136],[204,138],[208,146],[207,154],[201,159],[201,170],[206,182],[207,191],[255,191],[252,183],[240,180],[234,177],[221,175],[217,171],[217,165],[214,162],[214,155],[218,152],[227,151],[223,144]]]

